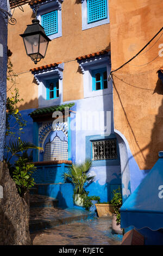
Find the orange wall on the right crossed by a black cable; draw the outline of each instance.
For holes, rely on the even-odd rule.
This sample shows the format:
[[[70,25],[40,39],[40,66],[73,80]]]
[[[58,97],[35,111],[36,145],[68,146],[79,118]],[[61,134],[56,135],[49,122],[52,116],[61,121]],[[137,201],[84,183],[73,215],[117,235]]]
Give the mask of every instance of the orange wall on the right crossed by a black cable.
[[[162,13],[162,0],[109,0],[112,70],[135,56],[161,29]],[[156,74],[163,57],[153,60],[163,44],[161,33],[144,54],[113,73],[115,129],[126,137],[140,169],[152,168],[163,150],[163,84]]]

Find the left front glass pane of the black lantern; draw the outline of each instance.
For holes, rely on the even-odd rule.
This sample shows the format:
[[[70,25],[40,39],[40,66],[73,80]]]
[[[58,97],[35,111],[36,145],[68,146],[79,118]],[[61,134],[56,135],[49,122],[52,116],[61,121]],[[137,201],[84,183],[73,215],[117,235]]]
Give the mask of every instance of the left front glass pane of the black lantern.
[[[25,36],[24,44],[28,55],[37,53],[39,50],[39,34]]]

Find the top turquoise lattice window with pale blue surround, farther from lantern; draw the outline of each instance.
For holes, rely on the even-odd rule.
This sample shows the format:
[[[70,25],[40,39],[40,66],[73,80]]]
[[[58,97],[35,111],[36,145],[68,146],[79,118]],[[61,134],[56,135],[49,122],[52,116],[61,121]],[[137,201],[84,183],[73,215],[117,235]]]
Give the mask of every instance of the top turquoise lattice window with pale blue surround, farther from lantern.
[[[108,0],[80,0],[82,3],[82,30],[109,23]]]

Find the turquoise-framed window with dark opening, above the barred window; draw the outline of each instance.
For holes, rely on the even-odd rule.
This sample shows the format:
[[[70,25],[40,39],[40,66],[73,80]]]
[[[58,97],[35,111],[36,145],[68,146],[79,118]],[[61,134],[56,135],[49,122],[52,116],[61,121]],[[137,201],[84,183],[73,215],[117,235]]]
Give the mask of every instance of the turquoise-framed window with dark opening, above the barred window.
[[[102,90],[108,88],[107,70],[92,70],[92,90]]]

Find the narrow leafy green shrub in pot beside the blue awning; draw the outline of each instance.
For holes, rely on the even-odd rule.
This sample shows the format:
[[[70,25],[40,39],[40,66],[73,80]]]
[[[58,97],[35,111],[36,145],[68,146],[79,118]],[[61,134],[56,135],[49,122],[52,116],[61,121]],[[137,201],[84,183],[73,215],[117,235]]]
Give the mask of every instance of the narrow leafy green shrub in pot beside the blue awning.
[[[122,193],[121,193],[120,187],[118,187],[116,190],[113,190],[112,193],[114,196],[110,203],[112,204],[112,206],[114,208],[114,214],[117,215],[116,222],[118,225],[121,223],[120,208],[122,206]]]

